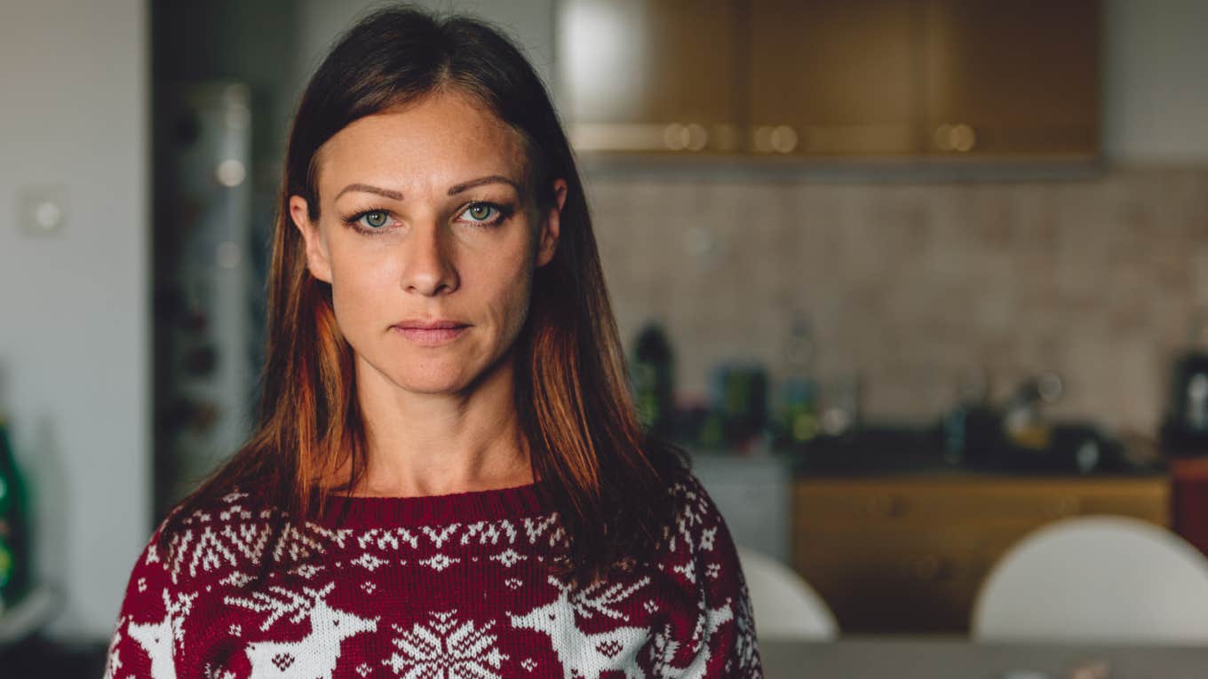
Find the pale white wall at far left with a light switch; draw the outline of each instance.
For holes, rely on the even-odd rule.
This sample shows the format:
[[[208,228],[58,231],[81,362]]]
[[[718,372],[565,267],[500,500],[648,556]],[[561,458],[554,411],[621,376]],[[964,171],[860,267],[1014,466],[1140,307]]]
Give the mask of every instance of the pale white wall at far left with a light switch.
[[[108,637],[151,529],[144,0],[0,0],[0,404],[64,636]],[[58,187],[66,222],[17,219]]]

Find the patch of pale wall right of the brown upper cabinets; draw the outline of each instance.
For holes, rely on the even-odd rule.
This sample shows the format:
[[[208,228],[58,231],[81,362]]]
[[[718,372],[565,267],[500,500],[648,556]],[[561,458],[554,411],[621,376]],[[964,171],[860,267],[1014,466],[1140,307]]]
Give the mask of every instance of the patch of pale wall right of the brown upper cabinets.
[[[1208,2],[1105,0],[1103,146],[1113,161],[1208,161]]]

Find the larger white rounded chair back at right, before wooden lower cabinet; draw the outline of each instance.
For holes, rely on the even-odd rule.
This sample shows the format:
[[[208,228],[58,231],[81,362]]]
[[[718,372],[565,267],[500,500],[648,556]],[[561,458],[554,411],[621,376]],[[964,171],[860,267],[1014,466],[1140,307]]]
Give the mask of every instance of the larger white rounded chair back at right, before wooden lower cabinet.
[[[1208,643],[1208,558],[1151,523],[1061,521],[994,565],[974,604],[981,640]]]

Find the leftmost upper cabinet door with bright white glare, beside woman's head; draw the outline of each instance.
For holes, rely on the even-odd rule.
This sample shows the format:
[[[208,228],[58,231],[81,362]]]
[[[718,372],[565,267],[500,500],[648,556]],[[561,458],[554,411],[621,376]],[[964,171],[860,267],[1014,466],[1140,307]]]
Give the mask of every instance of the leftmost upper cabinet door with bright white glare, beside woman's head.
[[[563,0],[559,81],[590,151],[733,151],[742,0]]]

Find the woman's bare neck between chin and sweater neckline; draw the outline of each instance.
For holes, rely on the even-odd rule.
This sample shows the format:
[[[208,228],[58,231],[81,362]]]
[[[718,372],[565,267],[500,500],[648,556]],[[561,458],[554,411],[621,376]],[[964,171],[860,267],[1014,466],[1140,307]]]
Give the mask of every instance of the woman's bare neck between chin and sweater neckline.
[[[367,464],[356,495],[422,497],[533,482],[510,359],[458,394],[400,389],[356,359]]]

